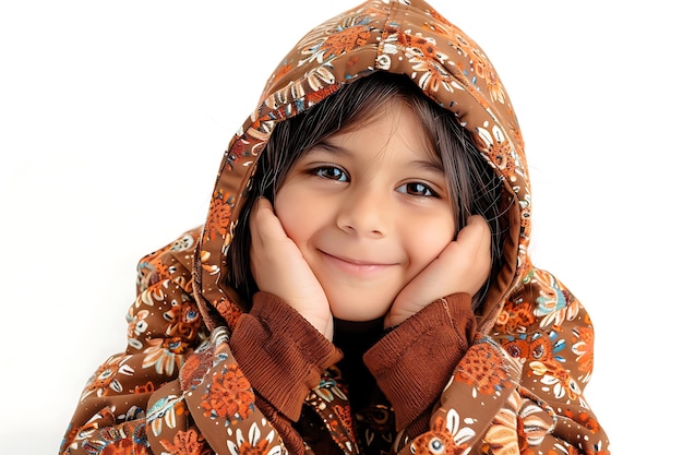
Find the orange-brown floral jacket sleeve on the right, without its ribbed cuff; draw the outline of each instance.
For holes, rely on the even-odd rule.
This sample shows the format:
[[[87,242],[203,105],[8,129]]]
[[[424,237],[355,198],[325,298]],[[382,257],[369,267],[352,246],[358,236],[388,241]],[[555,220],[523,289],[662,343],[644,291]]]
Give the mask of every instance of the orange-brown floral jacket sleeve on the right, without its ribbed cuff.
[[[531,270],[494,330],[477,334],[458,361],[429,429],[400,433],[396,452],[609,454],[583,394],[592,334],[578,300],[552,275]]]

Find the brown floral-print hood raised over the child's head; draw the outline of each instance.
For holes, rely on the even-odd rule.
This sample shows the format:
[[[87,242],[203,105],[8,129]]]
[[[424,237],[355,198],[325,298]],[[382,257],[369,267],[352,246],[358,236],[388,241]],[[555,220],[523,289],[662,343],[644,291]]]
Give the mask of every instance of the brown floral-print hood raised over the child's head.
[[[452,110],[503,178],[514,201],[504,265],[478,310],[480,330],[493,325],[528,270],[530,192],[517,120],[494,68],[479,46],[421,0],[372,0],[313,28],[268,79],[256,109],[231,139],[220,163],[197,246],[194,294],[209,328],[233,327],[242,309],[226,284],[227,252],[260,152],[274,125],[376,71],[408,75]],[[213,326],[212,326],[213,325]]]

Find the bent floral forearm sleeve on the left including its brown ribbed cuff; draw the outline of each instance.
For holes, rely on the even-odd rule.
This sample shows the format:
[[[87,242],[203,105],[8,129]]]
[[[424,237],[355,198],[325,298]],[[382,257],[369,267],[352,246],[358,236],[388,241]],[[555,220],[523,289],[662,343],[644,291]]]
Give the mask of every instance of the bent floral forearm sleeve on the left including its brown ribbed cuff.
[[[203,454],[200,448],[211,447],[217,454],[303,454],[307,446],[292,422],[321,372],[338,357],[293,309],[259,292],[231,334],[214,330],[178,381],[152,396],[149,445],[154,453]],[[196,446],[188,445],[190,438]]]

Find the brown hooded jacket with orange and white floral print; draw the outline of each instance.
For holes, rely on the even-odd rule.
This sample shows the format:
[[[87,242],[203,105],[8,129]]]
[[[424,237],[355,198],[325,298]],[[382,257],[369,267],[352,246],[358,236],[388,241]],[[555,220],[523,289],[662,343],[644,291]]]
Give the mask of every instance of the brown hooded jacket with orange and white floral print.
[[[242,196],[274,124],[376,71],[408,75],[452,110],[514,204],[505,266],[467,339],[450,332],[448,318],[469,296],[432,303],[368,352],[383,393],[351,411],[339,351],[274,296],[257,295],[247,310],[225,277]],[[609,454],[583,394],[592,325],[567,288],[531,264],[530,214],[510,97],[471,38],[422,0],[370,0],[324,22],[281,60],[235,134],[206,223],[141,260],[125,351],[87,381],[60,452]],[[281,336],[274,327],[285,323],[291,333]],[[457,355],[408,362],[405,348],[417,340]],[[267,361],[253,360],[271,349],[293,352],[275,381]],[[434,399],[421,398],[423,376],[447,361],[455,367]],[[427,411],[419,432],[412,407]]]

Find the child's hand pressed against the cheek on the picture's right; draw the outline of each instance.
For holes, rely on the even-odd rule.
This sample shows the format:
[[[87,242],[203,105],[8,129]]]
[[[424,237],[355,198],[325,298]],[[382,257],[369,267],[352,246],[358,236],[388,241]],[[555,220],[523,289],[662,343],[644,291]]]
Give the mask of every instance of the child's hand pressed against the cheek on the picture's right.
[[[384,318],[384,326],[400,324],[442,297],[456,292],[474,296],[490,273],[491,230],[482,216],[475,215],[457,238],[403,288]]]

